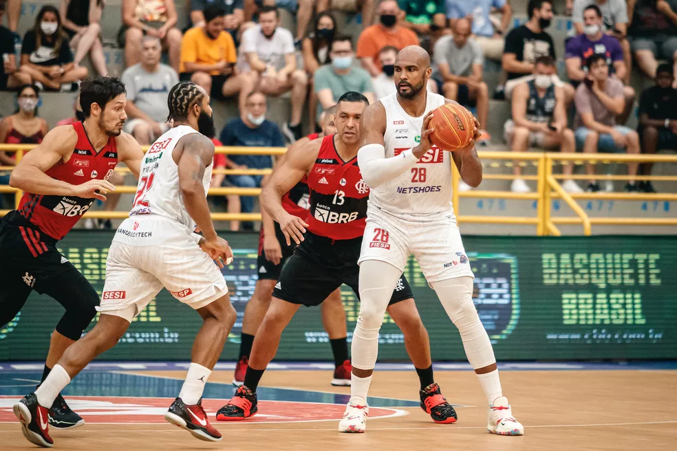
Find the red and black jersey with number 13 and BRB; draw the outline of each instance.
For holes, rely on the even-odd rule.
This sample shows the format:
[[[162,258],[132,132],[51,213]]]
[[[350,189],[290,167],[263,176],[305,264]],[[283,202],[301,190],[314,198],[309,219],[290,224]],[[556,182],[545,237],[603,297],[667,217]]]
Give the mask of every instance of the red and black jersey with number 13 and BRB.
[[[357,156],[344,162],[334,135],[325,136],[308,173],[311,233],[335,240],[353,239],[365,232],[369,186],[362,179]]]

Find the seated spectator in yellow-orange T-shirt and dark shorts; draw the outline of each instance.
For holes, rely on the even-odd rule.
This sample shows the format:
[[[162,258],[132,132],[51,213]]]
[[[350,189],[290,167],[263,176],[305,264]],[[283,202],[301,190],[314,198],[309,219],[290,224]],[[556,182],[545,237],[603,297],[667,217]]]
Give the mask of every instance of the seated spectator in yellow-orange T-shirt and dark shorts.
[[[225,15],[219,5],[208,6],[204,25],[188,30],[181,44],[181,79],[202,86],[212,98],[234,96],[242,87],[235,74],[235,43],[224,31]],[[244,107],[244,96],[239,107]]]

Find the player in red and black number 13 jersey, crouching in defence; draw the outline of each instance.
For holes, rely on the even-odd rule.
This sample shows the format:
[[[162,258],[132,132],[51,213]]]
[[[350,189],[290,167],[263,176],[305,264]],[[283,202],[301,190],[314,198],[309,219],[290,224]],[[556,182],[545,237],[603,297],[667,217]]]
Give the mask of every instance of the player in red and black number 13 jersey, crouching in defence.
[[[261,194],[262,206],[280,223],[286,242],[289,245],[295,242],[299,246],[283,267],[275,285],[272,303],[254,339],[244,385],[217,412],[217,420],[245,419],[257,412],[259,380],[275,357],[283,329],[301,305],[319,305],[343,283],[350,286],[359,298],[357,260],[364,219],[360,212],[349,212],[345,208],[360,209],[368,191],[368,187],[365,190],[360,184],[363,180],[354,179],[358,172],[357,151],[361,141],[359,121],[367,104],[367,98],[356,92],[341,96],[336,111],[338,133],[292,151],[286,162],[272,174]],[[306,175],[311,189],[310,212],[314,222],[310,219],[303,221],[286,212],[279,194],[290,190]],[[335,195],[328,195],[330,192],[335,192]],[[416,366],[421,390],[434,384],[427,332],[404,276],[396,283],[387,311],[402,329],[407,349],[412,351],[409,357]],[[445,422],[455,421],[456,413],[446,399],[440,395],[435,401],[426,403],[427,397],[427,393],[422,391],[421,406],[435,421],[440,415]]]

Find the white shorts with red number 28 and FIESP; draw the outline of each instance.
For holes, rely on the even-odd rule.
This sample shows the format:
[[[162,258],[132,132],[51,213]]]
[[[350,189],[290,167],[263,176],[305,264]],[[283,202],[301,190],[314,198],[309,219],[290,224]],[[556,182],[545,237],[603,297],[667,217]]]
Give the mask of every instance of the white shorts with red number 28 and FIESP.
[[[429,221],[411,221],[371,207],[358,263],[380,260],[400,271],[413,254],[428,283],[475,277],[452,214]]]

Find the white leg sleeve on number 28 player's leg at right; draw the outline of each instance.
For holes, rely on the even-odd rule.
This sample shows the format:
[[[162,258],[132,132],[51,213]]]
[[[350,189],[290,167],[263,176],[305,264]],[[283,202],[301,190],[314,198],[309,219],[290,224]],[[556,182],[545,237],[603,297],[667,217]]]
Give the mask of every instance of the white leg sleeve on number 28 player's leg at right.
[[[451,278],[432,283],[431,287],[458,328],[463,348],[473,369],[496,363],[491,342],[473,303],[473,278]]]

